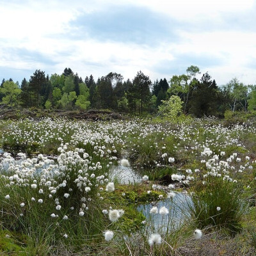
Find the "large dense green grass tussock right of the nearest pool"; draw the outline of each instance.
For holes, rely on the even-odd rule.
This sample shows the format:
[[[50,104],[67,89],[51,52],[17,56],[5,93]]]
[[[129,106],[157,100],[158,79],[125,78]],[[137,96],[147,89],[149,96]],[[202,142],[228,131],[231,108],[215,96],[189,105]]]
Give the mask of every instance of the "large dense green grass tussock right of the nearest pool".
[[[241,198],[241,188],[236,183],[209,176],[203,188],[192,189],[190,195],[192,204],[189,211],[197,227],[212,225],[224,228],[230,234],[241,230],[245,204]],[[220,211],[217,207],[220,207]]]

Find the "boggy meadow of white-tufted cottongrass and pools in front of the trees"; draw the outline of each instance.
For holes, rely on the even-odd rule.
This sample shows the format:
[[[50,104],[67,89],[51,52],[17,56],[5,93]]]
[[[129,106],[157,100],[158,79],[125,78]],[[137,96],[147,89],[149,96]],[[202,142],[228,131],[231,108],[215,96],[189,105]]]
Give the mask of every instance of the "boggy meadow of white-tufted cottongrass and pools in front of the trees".
[[[253,119],[174,121],[0,120],[0,252],[255,255]]]

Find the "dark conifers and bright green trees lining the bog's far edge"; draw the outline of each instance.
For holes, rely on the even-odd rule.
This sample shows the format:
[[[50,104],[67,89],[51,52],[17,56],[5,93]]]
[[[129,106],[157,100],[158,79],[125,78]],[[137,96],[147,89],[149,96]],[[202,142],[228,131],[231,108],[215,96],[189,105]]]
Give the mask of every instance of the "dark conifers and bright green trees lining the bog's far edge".
[[[233,78],[223,86],[206,72],[191,65],[186,73],[154,83],[143,72],[134,79],[110,72],[97,81],[93,76],[79,77],[70,68],[61,75],[45,76],[36,70],[29,81],[14,83],[3,79],[0,85],[0,104],[19,108],[44,109],[111,109],[134,115],[157,113],[159,107],[172,95],[182,100],[182,111],[193,116],[223,116],[231,111],[256,109],[256,85],[243,84]]]

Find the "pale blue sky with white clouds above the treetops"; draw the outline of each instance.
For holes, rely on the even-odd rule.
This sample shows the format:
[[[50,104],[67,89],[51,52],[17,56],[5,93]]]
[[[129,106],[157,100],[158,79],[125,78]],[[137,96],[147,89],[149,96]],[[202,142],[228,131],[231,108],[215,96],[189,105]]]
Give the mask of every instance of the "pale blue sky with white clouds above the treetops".
[[[35,70],[83,79],[138,71],[156,79],[191,65],[218,86],[256,84],[255,0],[0,0],[0,79]]]

